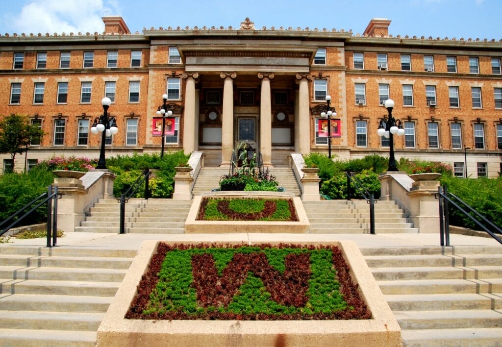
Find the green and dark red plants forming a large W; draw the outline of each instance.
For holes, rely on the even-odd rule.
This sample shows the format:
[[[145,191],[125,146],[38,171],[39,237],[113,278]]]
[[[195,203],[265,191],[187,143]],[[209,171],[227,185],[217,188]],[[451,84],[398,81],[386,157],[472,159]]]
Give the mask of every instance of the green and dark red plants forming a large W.
[[[160,243],[129,319],[369,319],[335,246]]]

